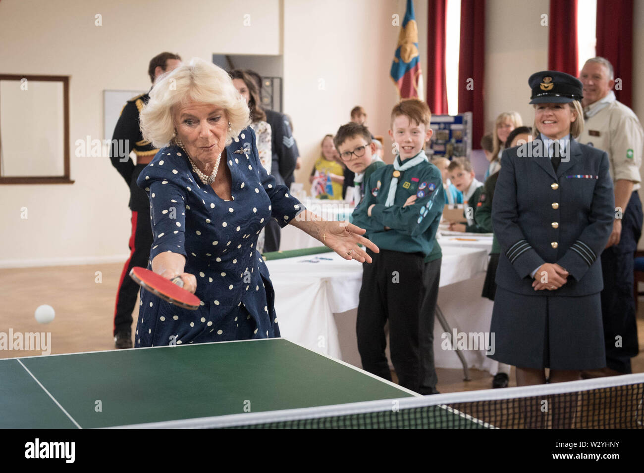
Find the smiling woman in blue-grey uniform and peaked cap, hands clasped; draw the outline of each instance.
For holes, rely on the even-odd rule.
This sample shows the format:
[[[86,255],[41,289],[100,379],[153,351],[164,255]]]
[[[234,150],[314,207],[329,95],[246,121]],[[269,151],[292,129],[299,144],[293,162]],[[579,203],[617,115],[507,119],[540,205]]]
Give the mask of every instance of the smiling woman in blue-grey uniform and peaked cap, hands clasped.
[[[516,384],[577,380],[605,366],[598,255],[612,231],[608,156],[574,140],[582,83],[542,71],[529,81],[533,142],[506,149],[492,219],[501,246],[491,331]]]

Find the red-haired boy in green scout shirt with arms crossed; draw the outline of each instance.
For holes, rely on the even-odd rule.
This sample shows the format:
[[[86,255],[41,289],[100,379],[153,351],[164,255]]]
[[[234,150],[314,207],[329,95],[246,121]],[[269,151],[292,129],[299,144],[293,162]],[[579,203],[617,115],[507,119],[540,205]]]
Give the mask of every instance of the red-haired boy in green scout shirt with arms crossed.
[[[421,394],[437,392],[432,345],[442,254],[435,237],[445,205],[440,171],[423,151],[430,118],[427,104],[416,98],[393,107],[389,134],[399,154],[365,181],[353,213],[353,223],[380,248],[369,252],[372,264],[363,264],[356,323],[363,368],[392,379],[384,354],[389,320],[399,384]]]

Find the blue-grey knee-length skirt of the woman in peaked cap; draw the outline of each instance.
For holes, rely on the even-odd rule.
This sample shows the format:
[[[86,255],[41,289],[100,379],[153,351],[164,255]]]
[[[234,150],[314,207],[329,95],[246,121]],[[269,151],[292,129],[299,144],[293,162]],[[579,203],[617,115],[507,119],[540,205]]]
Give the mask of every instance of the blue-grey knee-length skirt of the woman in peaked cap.
[[[600,293],[579,297],[522,295],[497,287],[492,311],[493,360],[520,368],[606,366]]]

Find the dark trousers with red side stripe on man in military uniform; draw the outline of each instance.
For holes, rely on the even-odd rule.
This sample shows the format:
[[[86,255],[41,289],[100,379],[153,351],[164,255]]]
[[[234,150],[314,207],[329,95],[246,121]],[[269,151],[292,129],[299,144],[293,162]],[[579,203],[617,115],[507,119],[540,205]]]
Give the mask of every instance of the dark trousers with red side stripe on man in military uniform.
[[[129,277],[134,266],[147,268],[153,236],[150,223],[150,211],[132,211],[132,234],[129,237],[129,259],[123,266],[118,281],[117,301],[114,308],[114,335],[127,331],[132,326],[132,311],[137,303],[139,286]]]

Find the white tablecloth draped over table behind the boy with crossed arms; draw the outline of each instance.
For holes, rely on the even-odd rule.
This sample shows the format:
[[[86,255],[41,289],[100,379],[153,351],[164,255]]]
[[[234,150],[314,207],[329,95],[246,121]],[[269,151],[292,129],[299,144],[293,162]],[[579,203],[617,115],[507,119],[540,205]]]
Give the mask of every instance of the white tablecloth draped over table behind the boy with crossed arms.
[[[488,266],[489,246],[487,249],[468,248],[459,243],[462,242],[451,245],[441,241],[439,306],[450,326],[457,331],[488,332],[492,302],[480,297],[480,293]],[[330,258],[330,261],[320,258]],[[312,259],[317,263],[312,263]],[[275,289],[275,310],[282,337],[360,366],[355,342],[355,312],[362,265],[335,253],[277,259],[266,264]],[[461,367],[454,351],[441,348],[442,332],[436,322],[436,366]],[[484,351],[465,351],[464,355],[470,367],[496,373],[497,363],[487,358]]]

